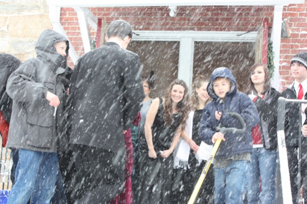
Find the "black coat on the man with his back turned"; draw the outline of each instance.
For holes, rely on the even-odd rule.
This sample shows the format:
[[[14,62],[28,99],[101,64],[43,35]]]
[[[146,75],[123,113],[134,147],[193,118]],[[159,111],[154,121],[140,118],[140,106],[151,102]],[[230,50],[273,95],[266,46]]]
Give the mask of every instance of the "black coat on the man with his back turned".
[[[115,42],[81,56],[68,100],[69,143],[123,150],[123,130],[136,118],[144,98],[140,59]]]

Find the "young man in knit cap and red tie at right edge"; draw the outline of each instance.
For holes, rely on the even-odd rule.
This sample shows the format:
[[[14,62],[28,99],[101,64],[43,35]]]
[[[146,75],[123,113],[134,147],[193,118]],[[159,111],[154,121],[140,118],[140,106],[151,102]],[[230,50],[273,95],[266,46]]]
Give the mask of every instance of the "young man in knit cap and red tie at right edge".
[[[307,99],[307,52],[300,52],[293,56],[291,60],[291,75],[294,82],[288,86],[281,94],[287,99]],[[288,154],[288,165],[290,172],[290,183],[293,203],[298,203],[298,140],[302,121],[299,121],[299,114],[302,114],[302,121],[305,119],[301,105],[297,103],[286,104],[286,119],[284,121],[284,132]],[[301,148],[307,147],[307,138],[301,138]],[[301,182],[307,179],[307,151],[301,151]],[[307,200],[307,186],[303,185],[303,198]]]

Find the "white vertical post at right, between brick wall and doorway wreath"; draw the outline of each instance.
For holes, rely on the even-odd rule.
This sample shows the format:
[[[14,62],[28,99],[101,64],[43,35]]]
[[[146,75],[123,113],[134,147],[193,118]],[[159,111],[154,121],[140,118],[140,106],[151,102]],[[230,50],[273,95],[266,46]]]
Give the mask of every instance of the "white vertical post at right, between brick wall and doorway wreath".
[[[281,39],[281,21],[282,21],[282,5],[274,6],[274,18],[273,18],[273,31],[272,31],[272,45],[274,52],[274,78],[271,81],[271,85],[276,90],[281,90],[281,81],[279,76],[279,54],[280,54],[280,39]]]

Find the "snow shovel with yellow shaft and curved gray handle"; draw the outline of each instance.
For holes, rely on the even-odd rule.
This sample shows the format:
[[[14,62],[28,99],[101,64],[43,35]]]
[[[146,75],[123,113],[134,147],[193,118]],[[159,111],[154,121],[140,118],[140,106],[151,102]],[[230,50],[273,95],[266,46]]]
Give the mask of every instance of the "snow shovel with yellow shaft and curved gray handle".
[[[243,120],[243,118],[239,114],[237,114],[236,112],[227,112],[226,114],[237,118],[240,121],[241,125],[242,125],[242,129],[237,129],[237,128],[234,128],[234,127],[228,127],[228,128],[220,127],[220,125],[221,125],[220,124],[218,127],[216,127],[217,131],[219,131],[219,132],[221,132],[223,134],[225,134],[226,132],[244,133],[246,131],[246,123],[245,123],[245,121]],[[218,147],[221,144],[221,141],[222,141],[221,139],[217,139],[215,141],[213,149],[211,150],[209,159],[206,162],[206,165],[205,165],[205,167],[202,170],[200,178],[198,179],[198,181],[197,181],[197,183],[196,183],[196,185],[194,187],[193,193],[192,193],[192,195],[191,195],[191,197],[190,197],[190,199],[188,201],[188,204],[193,204],[194,203],[194,201],[195,201],[195,199],[196,199],[196,197],[197,197],[197,195],[198,195],[198,193],[199,193],[199,191],[200,191],[200,189],[201,189],[201,187],[203,185],[203,182],[204,182],[204,180],[206,178],[206,175],[207,175],[207,173],[209,171],[209,168],[210,168],[210,165],[211,165],[211,163],[213,161],[215,153],[216,153]]]

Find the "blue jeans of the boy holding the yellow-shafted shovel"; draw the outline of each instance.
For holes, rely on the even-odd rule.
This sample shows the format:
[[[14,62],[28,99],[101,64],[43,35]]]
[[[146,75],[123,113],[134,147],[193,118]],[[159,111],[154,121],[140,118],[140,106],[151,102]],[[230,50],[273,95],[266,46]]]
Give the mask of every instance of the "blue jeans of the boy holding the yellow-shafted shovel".
[[[214,203],[243,204],[249,161],[231,161],[222,168],[214,168]]]

